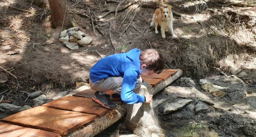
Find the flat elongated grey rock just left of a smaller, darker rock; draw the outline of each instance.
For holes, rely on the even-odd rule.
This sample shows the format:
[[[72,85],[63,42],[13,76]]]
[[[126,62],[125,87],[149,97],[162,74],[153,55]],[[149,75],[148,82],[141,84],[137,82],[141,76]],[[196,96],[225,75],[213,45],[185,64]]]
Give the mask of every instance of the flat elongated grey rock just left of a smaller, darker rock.
[[[183,106],[189,104],[192,101],[193,100],[191,99],[180,99],[174,103],[167,103],[163,106],[164,107],[163,114],[169,114],[173,111],[179,110],[183,108]]]

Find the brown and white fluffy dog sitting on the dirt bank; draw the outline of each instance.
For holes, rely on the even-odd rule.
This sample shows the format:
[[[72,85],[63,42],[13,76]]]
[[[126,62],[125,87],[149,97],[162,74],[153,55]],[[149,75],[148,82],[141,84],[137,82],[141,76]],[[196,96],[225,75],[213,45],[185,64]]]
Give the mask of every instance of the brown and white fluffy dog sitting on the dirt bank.
[[[173,13],[171,11],[172,6],[167,8],[159,7],[153,14],[152,22],[150,26],[155,26],[155,32],[158,34],[157,27],[161,27],[162,37],[165,38],[165,31],[171,31],[173,37],[177,37],[173,32]]]

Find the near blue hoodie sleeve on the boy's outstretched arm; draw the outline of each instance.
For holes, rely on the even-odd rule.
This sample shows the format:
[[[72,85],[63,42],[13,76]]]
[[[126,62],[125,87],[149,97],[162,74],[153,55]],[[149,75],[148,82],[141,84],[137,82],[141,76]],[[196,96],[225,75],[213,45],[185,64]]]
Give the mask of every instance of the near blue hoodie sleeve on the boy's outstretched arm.
[[[123,78],[122,90],[121,90],[121,99],[127,104],[145,102],[145,96],[135,94],[132,91],[132,89],[134,89],[136,85],[138,74],[139,74],[138,70],[134,68],[129,68],[124,72],[124,78]]]

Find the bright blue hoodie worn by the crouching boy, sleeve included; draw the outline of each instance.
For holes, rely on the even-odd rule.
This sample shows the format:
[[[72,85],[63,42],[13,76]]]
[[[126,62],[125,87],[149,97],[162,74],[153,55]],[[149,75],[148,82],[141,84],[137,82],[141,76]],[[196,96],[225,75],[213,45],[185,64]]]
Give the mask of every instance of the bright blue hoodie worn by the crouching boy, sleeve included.
[[[111,76],[123,76],[121,99],[127,104],[144,103],[145,96],[135,94],[134,89],[137,76],[141,73],[139,49],[132,49],[127,53],[120,53],[100,59],[90,70],[90,79],[96,81]]]

